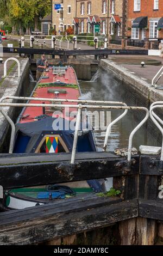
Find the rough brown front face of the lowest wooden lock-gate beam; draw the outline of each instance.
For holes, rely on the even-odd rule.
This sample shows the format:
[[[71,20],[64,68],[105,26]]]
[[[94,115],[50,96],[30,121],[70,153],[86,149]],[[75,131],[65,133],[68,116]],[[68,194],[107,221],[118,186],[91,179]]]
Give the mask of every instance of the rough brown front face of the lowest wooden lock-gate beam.
[[[138,216],[137,200],[77,212],[63,212],[0,227],[0,245],[29,245],[102,228]]]

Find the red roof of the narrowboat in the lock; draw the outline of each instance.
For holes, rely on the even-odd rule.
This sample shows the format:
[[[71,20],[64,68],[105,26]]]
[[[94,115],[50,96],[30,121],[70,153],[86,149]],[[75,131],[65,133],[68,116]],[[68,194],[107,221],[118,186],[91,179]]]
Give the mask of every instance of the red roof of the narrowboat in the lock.
[[[60,73],[58,73],[60,72]],[[57,73],[57,74],[53,74]],[[76,72],[70,66],[65,67],[51,67],[49,71],[45,72],[42,79],[37,83],[36,88],[32,94],[32,97],[56,99],[55,92],[58,92],[59,99],[65,100],[78,100],[80,96],[80,89]],[[45,103],[52,104],[52,101],[35,101],[30,100],[28,103]],[[60,105],[77,105],[77,102],[58,102]],[[65,113],[65,108],[46,108],[46,114],[55,117],[54,112],[60,111],[60,117],[65,117],[67,120],[71,120],[70,115]],[[70,112],[77,111],[77,108],[70,108]],[[36,117],[43,114],[42,107],[26,107],[21,112],[19,123],[30,123],[37,121]]]

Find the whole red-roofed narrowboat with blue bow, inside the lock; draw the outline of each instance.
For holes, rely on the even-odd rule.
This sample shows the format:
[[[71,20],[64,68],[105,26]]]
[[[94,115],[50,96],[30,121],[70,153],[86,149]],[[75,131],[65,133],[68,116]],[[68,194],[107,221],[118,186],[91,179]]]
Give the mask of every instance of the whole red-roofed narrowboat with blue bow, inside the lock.
[[[31,97],[46,98],[40,102],[30,100],[28,103],[51,103],[48,99],[78,100],[81,91],[76,72],[71,66],[50,67],[37,82]],[[69,153],[73,147],[74,130],[70,129],[73,118],[62,105],[70,104],[60,102],[59,108],[24,107],[16,123],[14,153]],[[77,105],[76,102],[71,102]],[[71,108],[71,112],[77,108]],[[62,129],[55,130],[55,122],[63,121]],[[75,125],[75,121],[74,121]],[[69,127],[67,130],[66,127]],[[82,128],[81,128],[82,129]],[[81,130],[80,129],[80,130]],[[78,152],[97,151],[92,131],[82,132],[78,137]],[[66,184],[65,184],[66,185]],[[70,184],[70,187],[52,185],[47,188],[23,188],[12,190],[5,194],[4,205],[8,209],[24,209],[27,207],[46,204],[56,199],[74,196],[75,193],[101,192],[99,181],[85,181],[80,186]],[[69,184],[68,184],[69,185]]]

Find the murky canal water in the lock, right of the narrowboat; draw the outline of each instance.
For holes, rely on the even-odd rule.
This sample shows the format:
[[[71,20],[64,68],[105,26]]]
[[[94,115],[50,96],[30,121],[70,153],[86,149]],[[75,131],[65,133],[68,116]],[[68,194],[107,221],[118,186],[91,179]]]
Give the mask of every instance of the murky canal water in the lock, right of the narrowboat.
[[[128,106],[148,107],[148,102],[141,95],[134,92],[129,85],[118,80],[118,77],[111,71],[106,72],[99,69],[91,82],[80,81],[80,88],[83,94],[82,99],[85,100],[123,101]],[[111,110],[111,121],[115,120],[122,112],[121,110]],[[126,117],[112,127],[107,150],[114,151],[116,148],[128,148],[129,135],[143,117],[145,117],[145,112],[128,111]],[[95,131],[94,133],[97,147],[101,150],[105,133],[101,131]],[[138,150],[140,145],[161,147],[161,139],[159,138],[161,138],[159,131],[149,120],[135,134],[133,147]]]

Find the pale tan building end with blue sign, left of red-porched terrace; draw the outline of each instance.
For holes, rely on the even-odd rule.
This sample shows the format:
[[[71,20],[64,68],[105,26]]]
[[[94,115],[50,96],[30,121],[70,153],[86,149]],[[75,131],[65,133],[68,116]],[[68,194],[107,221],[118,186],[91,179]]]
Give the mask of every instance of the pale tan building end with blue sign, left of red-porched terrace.
[[[55,10],[55,4],[61,4],[61,9]],[[52,1],[52,26],[57,32],[57,35],[66,31],[68,27],[74,29],[74,17],[76,17],[76,0]]]

